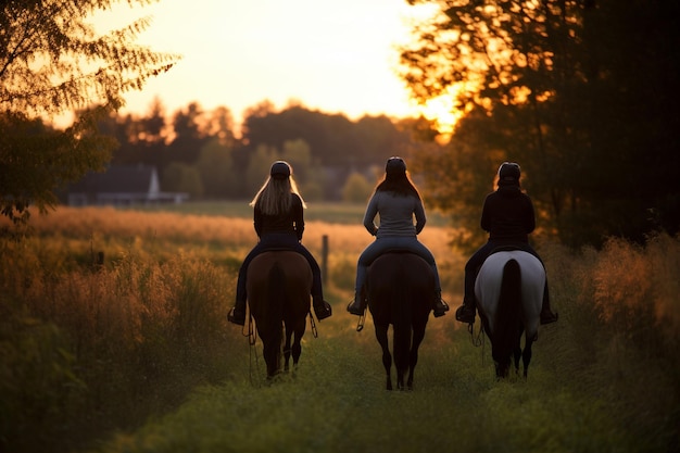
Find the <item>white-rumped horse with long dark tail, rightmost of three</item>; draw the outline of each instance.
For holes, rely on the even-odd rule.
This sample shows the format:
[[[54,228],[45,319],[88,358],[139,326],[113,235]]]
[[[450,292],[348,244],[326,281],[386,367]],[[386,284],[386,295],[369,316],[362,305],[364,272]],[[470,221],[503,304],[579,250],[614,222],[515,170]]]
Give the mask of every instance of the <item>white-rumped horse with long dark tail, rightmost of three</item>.
[[[531,345],[538,339],[544,287],[543,264],[521,250],[492,253],[480,267],[475,295],[483,329],[491,340],[498,379],[508,377],[512,355],[516,374],[519,374],[521,356],[524,377],[527,377]]]

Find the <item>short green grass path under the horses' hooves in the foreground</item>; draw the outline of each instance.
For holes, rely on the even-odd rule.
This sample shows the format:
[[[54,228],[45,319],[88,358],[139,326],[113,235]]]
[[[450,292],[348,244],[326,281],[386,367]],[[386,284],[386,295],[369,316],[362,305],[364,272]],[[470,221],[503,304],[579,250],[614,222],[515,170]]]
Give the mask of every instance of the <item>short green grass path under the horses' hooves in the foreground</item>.
[[[565,386],[540,342],[528,381],[496,382],[488,341],[475,348],[452,319],[431,319],[415,390],[390,392],[373,326],[354,332],[348,317],[319,325],[319,338],[307,332],[297,373],[265,382],[257,344],[251,354],[259,362],[238,364],[223,385],[198,390],[177,412],[99,451],[631,451],[606,404]],[[244,339],[238,348],[248,348]],[[259,376],[252,382],[251,372]]]

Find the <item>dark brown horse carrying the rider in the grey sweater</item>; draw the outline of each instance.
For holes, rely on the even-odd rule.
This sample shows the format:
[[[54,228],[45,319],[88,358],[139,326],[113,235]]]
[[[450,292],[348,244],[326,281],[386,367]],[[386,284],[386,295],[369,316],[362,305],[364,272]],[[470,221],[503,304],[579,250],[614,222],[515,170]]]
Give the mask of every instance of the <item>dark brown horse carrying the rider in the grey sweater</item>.
[[[390,251],[368,268],[366,294],[376,338],[382,348],[387,389],[392,390],[392,355],[388,344],[388,329],[392,325],[396,388],[404,390],[404,376],[408,372],[406,386],[413,390],[418,348],[435,303],[435,274],[420,256]]]

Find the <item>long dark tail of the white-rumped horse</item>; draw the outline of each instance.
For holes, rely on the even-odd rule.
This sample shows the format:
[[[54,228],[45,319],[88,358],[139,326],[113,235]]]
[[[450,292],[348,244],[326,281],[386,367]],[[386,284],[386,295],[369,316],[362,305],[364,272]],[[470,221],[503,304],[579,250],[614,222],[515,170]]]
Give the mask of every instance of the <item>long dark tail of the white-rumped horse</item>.
[[[521,269],[516,260],[508,260],[503,267],[503,279],[499,294],[499,309],[495,315],[495,332],[499,345],[503,344],[502,355],[514,351],[521,320]],[[499,351],[501,352],[501,351]]]

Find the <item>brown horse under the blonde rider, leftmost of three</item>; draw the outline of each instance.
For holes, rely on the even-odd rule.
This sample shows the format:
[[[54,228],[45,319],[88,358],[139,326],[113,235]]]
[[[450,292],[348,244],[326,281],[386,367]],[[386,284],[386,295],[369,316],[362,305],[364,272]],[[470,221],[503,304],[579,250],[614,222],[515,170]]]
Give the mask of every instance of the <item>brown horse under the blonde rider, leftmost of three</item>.
[[[300,342],[310,313],[312,269],[300,253],[266,251],[250,263],[245,281],[250,312],[262,339],[267,378],[270,379],[281,372],[284,338],[284,370],[289,370],[291,354],[293,367],[298,366],[302,353]]]

